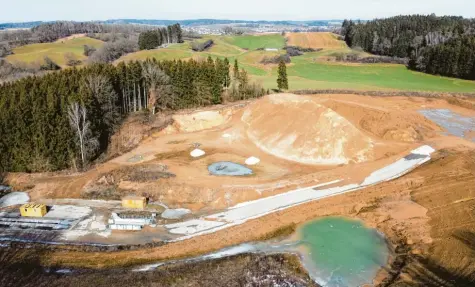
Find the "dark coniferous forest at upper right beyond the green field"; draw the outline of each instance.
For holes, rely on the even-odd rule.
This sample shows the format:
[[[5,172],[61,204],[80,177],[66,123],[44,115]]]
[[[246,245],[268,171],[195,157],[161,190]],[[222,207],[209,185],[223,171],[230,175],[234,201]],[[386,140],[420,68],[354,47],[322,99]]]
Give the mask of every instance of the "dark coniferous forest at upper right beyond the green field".
[[[397,16],[366,23],[345,20],[348,46],[409,58],[417,71],[475,80],[475,20],[435,15]]]

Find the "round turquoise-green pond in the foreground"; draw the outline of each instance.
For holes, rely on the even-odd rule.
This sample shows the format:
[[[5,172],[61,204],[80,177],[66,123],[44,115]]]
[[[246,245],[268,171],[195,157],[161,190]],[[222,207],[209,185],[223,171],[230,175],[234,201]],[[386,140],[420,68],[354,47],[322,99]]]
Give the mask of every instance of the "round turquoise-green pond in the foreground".
[[[303,263],[323,286],[370,284],[388,260],[384,238],[360,221],[319,219],[305,224],[299,237]]]

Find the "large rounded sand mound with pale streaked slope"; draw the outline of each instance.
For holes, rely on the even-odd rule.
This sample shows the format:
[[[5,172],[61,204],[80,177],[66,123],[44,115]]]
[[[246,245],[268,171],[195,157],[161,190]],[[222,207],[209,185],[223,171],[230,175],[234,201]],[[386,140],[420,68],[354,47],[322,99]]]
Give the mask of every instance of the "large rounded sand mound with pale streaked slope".
[[[251,104],[241,119],[259,148],[286,160],[337,165],[374,156],[368,136],[311,97],[270,95]]]

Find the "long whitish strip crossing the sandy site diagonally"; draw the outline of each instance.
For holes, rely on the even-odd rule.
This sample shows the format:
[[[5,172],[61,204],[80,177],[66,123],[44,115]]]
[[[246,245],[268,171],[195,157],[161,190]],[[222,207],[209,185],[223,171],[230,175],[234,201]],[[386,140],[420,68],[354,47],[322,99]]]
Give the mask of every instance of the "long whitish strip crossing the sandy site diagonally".
[[[187,235],[187,237],[215,232],[232,225],[240,224],[246,220],[261,217],[263,215],[296,206],[304,202],[335,196],[346,192],[355,191],[368,185],[388,181],[404,175],[415,167],[430,160],[430,154],[434,149],[430,146],[422,146],[411,152],[410,155],[402,158],[386,167],[371,173],[361,184],[353,183],[345,186],[330,187],[327,189],[315,188],[338,183],[339,180],[323,183],[318,186],[293,190],[275,196],[270,196],[254,201],[238,204],[228,210],[206,216],[201,219],[188,220],[185,222],[169,224],[165,227],[170,233]],[[211,220],[206,220],[211,219]],[[225,222],[218,222],[225,221]],[[183,238],[184,239],[184,238]]]

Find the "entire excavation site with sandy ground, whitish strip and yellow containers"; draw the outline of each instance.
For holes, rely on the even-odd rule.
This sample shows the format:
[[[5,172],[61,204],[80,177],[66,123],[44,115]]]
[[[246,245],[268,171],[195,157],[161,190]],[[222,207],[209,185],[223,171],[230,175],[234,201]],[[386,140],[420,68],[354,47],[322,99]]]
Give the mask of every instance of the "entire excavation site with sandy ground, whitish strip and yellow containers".
[[[469,98],[273,94],[181,111],[86,172],[8,174],[18,192],[0,199],[0,239],[164,244],[116,254],[121,264],[203,254],[339,215],[425,252],[435,219],[413,192],[444,180],[420,175],[437,173],[441,160],[473,159],[474,106]],[[473,207],[475,165],[467,164],[447,170],[448,177],[467,172],[465,190],[451,187],[456,206]],[[48,260],[92,267],[109,256],[73,254]]]

